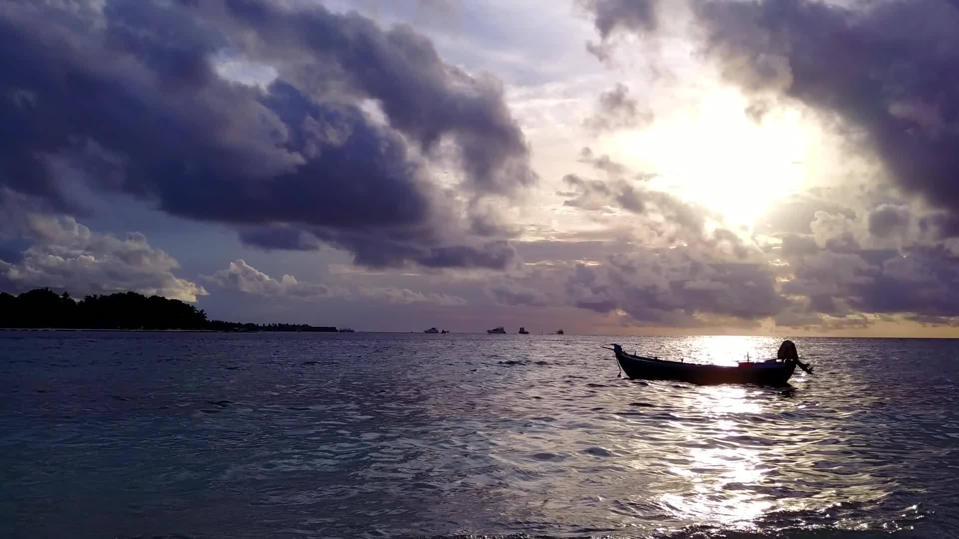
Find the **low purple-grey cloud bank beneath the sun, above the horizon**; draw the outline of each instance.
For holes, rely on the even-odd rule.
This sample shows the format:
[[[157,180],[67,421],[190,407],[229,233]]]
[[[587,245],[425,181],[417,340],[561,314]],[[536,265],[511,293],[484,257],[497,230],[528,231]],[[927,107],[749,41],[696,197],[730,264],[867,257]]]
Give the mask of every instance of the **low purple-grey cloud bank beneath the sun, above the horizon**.
[[[653,190],[635,191],[642,211],[631,212],[619,200],[629,183],[617,177],[573,176],[568,185],[567,205],[603,217],[599,223],[621,222],[620,212],[640,227],[662,220],[663,235],[642,242],[636,228],[617,242],[518,244],[526,261],[565,275],[571,305],[623,323],[741,327],[771,318],[831,332],[884,319],[949,325],[959,316],[959,251],[923,232],[916,223],[924,218],[900,200],[854,210],[830,201],[830,193],[791,199],[785,228],[805,233],[769,227],[773,235],[760,249],[668,194],[661,200]],[[661,212],[661,203],[677,209]],[[600,237],[618,236],[607,230]],[[575,266],[577,260],[589,262]]]

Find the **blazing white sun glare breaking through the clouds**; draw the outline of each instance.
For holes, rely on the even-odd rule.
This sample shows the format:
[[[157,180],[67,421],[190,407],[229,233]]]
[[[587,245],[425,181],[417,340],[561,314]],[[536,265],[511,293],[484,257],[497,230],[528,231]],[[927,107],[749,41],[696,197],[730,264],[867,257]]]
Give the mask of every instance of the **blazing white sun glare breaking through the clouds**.
[[[751,227],[803,186],[811,130],[797,110],[751,118],[748,105],[738,92],[716,91],[649,129],[622,135],[620,152],[658,174],[651,188],[702,205],[729,226]]]

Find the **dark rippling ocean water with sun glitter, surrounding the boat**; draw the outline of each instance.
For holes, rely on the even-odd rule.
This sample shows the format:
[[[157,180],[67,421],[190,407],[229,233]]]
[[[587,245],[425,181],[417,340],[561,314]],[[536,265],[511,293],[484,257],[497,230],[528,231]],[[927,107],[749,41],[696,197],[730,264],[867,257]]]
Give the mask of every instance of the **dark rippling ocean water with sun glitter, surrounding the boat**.
[[[959,537],[959,340],[611,340],[0,332],[0,537]]]

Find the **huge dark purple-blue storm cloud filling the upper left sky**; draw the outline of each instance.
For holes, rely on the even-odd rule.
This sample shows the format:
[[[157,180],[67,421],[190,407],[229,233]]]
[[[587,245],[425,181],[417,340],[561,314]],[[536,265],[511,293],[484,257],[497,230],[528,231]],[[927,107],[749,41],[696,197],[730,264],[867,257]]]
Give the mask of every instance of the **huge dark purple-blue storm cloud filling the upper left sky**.
[[[215,70],[222,54],[273,62],[279,78],[228,82]],[[355,13],[6,2],[0,74],[0,182],[61,211],[78,209],[64,186],[76,175],[54,167],[66,162],[95,190],[236,225],[258,246],[318,238],[372,265],[502,268],[510,248],[451,226],[414,150],[438,156],[451,141],[467,198],[535,177],[498,82],[445,64],[409,27],[384,31]]]

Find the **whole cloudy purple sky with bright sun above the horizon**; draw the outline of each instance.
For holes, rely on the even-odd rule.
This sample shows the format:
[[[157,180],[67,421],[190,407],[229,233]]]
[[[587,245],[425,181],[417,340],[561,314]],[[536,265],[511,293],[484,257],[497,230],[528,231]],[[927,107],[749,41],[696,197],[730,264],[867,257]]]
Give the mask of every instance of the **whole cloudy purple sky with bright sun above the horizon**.
[[[959,337],[955,0],[12,0],[0,291]]]

